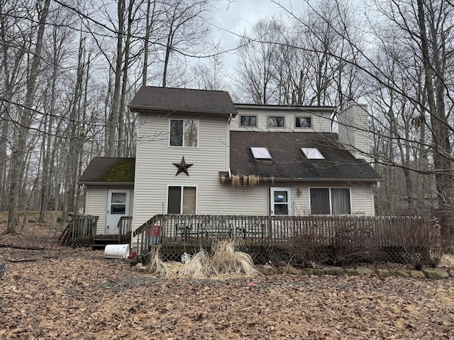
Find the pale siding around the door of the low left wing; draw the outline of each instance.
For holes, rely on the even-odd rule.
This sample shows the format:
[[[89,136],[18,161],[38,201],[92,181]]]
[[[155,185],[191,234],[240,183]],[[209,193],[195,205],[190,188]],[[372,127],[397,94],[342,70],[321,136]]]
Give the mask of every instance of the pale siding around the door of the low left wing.
[[[111,187],[108,186],[87,186],[85,200],[85,215],[98,216],[96,224],[96,235],[106,234],[106,212],[107,194]],[[123,188],[124,189],[124,188]],[[129,215],[133,214],[133,188],[130,188]]]

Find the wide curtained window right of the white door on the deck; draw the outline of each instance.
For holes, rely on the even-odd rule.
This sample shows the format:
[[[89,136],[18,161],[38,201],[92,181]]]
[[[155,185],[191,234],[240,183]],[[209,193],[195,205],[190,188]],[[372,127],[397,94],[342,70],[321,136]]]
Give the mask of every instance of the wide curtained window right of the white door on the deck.
[[[311,188],[312,215],[350,215],[350,189]]]

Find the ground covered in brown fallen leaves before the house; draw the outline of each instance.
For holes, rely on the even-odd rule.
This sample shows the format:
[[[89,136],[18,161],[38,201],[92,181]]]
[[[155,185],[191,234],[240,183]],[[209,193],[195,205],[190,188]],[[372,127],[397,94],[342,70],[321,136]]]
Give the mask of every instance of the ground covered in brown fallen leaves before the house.
[[[5,222],[0,339],[454,338],[453,277],[156,278],[60,246],[52,227],[5,234]]]

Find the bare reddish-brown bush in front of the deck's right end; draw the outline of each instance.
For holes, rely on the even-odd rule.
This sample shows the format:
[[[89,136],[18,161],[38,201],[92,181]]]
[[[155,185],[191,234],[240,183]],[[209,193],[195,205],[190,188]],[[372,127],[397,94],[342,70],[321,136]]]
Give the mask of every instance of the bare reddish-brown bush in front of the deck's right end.
[[[421,217],[294,217],[292,237],[272,249],[276,263],[348,266],[392,261],[436,266],[445,251],[438,220]]]

